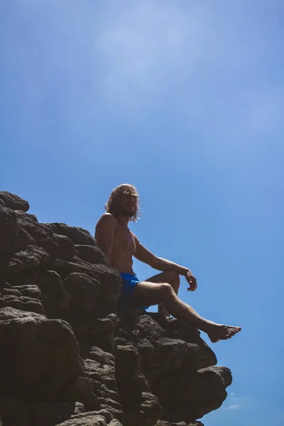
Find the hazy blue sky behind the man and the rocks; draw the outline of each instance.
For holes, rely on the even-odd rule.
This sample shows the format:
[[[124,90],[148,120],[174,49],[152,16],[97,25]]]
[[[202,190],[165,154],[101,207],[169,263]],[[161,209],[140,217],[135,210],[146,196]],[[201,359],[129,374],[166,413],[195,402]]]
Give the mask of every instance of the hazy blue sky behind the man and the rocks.
[[[284,422],[283,18],[281,0],[0,3],[1,187],[93,233],[136,185],[131,229],[197,277],[182,300],[243,327],[213,345],[234,381],[206,426]]]

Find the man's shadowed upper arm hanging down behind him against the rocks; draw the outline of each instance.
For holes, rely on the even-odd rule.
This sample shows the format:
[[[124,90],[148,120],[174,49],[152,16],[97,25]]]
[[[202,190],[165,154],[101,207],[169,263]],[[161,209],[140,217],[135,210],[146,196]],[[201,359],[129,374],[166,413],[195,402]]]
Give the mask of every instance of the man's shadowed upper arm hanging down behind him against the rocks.
[[[110,263],[112,246],[114,245],[114,233],[116,231],[117,221],[112,214],[104,213],[96,225],[94,238],[97,240],[99,249],[105,254]]]

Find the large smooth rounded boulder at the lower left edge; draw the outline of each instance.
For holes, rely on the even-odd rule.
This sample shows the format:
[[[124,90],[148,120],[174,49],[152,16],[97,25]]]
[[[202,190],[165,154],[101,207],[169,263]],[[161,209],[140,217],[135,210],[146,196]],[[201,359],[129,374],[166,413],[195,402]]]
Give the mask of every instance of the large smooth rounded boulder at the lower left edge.
[[[82,374],[79,348],[62,320],[0,309],[0,398],[58,401]]]

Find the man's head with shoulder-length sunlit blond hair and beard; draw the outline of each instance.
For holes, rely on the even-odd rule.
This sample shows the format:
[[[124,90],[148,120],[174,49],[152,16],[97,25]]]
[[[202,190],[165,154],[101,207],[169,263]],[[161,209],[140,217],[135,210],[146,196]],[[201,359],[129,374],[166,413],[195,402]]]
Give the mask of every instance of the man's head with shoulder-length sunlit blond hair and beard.
[[[114,188],[104,206],[107,213],[114,217],[127,216],[132,222],[136,222],[139,210],[139,197],[136,187],[124,183]]]

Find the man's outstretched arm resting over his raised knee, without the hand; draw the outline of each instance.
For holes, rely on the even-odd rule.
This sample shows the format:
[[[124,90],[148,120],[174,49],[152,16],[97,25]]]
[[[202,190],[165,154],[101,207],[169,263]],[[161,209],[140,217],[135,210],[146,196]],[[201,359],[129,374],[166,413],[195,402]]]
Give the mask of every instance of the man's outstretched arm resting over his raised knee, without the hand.
[[[142,246],[141,242],[134,234],[132,235],[136,245],[134,256],[138,259],[138,261],[147,263],[148,265],[152,266],[152,268],[158,269],[158,271],[168,271],[168,269],[173,269],[173,271],[176,271],[179,275],[187,275],[188,273],[191,274],[188,268],[180,266],[178,263],[174,263],[168,261],[167,259],[155,256],[153,253],[151,253],[151,251],[148,251],[144,246]]]

